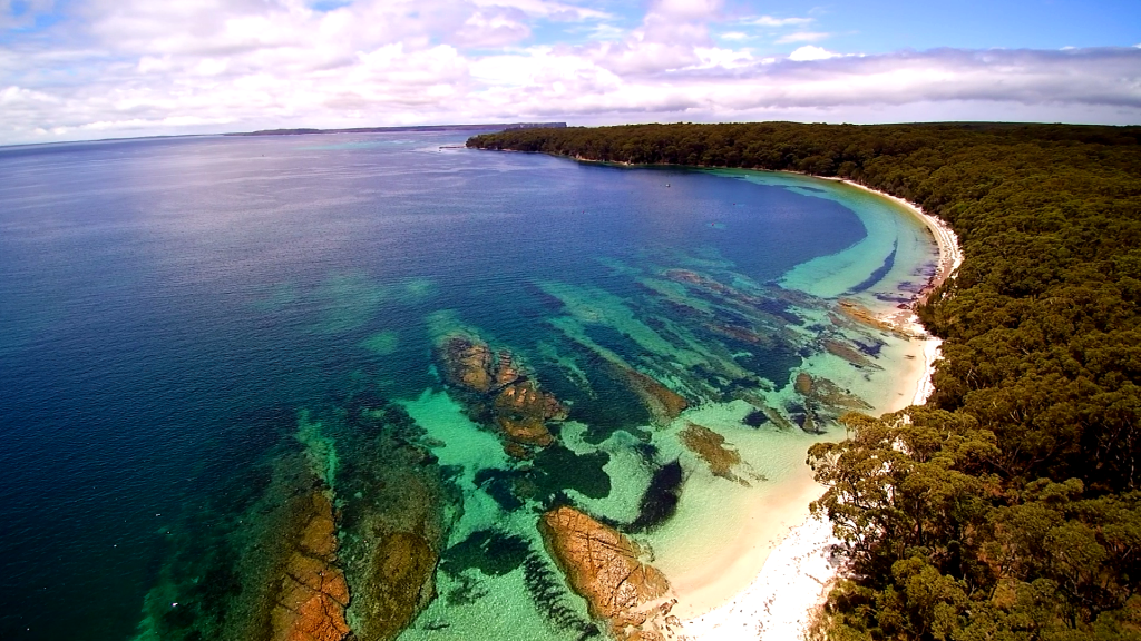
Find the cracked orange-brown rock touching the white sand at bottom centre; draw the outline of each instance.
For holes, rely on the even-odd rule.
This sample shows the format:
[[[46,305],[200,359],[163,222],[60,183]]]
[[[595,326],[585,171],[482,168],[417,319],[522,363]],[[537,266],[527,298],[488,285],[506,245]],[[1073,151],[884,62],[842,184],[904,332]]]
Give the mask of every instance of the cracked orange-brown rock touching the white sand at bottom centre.
[[[544,513],[539,530],[570,587],[590,614],[607,619],[618,639],[646,639],[649,606],[670,589],[665,576],[639,560],[641,549],[617,530],[563,506]]]

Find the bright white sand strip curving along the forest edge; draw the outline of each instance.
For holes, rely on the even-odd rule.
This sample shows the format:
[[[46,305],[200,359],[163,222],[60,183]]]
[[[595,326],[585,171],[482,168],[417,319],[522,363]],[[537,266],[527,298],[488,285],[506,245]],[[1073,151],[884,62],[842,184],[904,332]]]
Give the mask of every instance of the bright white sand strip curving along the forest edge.
[[[939,248],[939,262],[934,276],[917,299],[939,286],[962,263],[958,238],[946,222],[903,198],[847,180],[843,182],[896,202],[923,220],[931,230]],[[939,350],[941,341],[929,335],[919,318],[909,310],[893,315],[889,320],[920,339],[913,354],[916,359],[921,358],[921,366],[914,370],[916,375],[900,381],[901,393],[899,400],[892,403],[892,409],[921,405],[926,401],[933,389],[931,375],[936,360],[941,357]],[[810,486],[806,485],[804,489],[809,490],[809,494],[815,490],[814,498],[822,492],[815,481]],[[794,494],[795,500],[784,501],[779,506],[774,505],[777,508],[777,513],[767,514],[764,527],[758,528],[758,534],[771,533],[776,520],[786,529],[779,541],[764,541],[762,544],[753,545],[753,549],[763,547],[768,553],[760,573],[753,576],[746,587],[725,601],[717,585],[675,586],[679,603],[674,615],[678,618],[670,617],[667,623],[659,627],[667,639],[792,641],[803,636],[810,617],[824,602],[828,587],[835,581],[841,562],[833,559],[830,552],[832,545],[836,543],[831,524],[826,519],[808,514],[808,505],[801,503],[807,496],[803,492]],[[799,525],[792,527],[785,525],[790,518],[795,519]],[[764,537],[760,535],[758,538],[763,541]],[[755,558],[755,552],[743,550],[742,561],[735,563],[734,568],[719,568],[723,578],[713,583],[741,585],[743,571],[755,571],[752,569],[756,567],[755,562],[748,562],[751,555]],[[720,600],[717,600],[717,597],[720,597]]]

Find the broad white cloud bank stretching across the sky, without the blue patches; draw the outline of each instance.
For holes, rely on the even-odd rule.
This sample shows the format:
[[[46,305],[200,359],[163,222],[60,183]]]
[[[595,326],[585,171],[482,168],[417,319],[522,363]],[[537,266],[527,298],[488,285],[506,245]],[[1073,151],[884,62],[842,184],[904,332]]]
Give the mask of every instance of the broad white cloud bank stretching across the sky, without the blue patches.
[[[0,49],[0,143],[526,119],[954,119],[987,105],[990,119],[1141,121],[1141,48],[850,56],[804,44],[760,58],[747,30],[711,35],[711,23],[744,24],[719,1],[657,1],[628,30],[598,6],[89,0],[54,44]],[[607,39],[527,44],[536,21],[556,19]],[[790,31],[810,22],[750,19]]]

